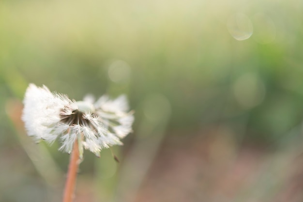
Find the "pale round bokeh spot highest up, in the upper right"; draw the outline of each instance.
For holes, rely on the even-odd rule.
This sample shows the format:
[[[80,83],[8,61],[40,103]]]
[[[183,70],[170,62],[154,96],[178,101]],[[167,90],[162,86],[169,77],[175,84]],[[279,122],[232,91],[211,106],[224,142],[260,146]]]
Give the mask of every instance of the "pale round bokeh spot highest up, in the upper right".
[[[231,36],[238,41],[243,41],[253,34],[253,24],[245,14],[235,14],[229,17],[227,29]]]

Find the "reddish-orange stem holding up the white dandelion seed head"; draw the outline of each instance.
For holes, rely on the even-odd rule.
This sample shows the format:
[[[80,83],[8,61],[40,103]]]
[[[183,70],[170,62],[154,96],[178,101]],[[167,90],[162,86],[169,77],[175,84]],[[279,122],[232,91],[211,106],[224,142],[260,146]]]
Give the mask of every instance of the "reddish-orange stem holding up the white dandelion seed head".
[[[79,149],[78,149],[78,141],[76,140],[69,161],[68,173],[67,173],[64,195],[63,195],[63,202],[73,201],[78,167],[79,167]]]

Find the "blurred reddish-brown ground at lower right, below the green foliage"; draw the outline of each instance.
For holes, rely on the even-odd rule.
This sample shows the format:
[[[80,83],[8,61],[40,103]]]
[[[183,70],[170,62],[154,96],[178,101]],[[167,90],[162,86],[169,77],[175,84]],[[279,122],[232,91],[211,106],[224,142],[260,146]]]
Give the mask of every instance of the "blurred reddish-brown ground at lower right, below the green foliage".
[[[227,132],[167,138],[136,202],[303,201],[302,155],[258,144],[235,148]]]

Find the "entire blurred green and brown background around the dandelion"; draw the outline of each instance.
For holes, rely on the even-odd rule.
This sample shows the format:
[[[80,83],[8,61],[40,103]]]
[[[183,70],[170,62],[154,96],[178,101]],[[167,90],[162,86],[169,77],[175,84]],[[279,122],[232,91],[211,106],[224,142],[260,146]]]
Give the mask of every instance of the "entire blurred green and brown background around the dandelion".
[[[303,1],[1,0],[0,201],[58,202],[69,156],[25,135],[29,83],[126,94],[76,202],[303,200]],[[302,181],[302,182],[301,182]]]

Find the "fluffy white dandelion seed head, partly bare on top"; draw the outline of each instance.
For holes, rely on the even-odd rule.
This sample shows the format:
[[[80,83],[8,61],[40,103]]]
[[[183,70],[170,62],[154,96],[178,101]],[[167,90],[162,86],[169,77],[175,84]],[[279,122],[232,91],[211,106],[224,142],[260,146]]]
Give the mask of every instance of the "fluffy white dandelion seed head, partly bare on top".
[[[59,150],[68,153],[78,141],[80,157],[83,148],[98,156],[103,148],[121,145],[120,139],[132,132],[134,116],[124,95],[115,100],[104,95],[96,102],[90,96],[75,101],[30,84],[23,102],[22,120],[29,136],[49,144],[58,138]]]

